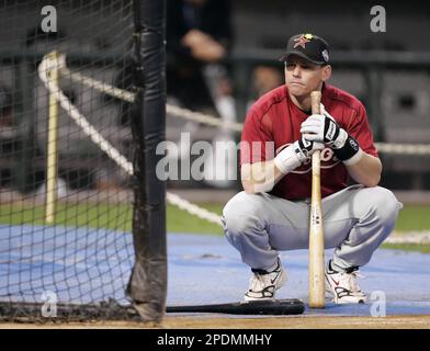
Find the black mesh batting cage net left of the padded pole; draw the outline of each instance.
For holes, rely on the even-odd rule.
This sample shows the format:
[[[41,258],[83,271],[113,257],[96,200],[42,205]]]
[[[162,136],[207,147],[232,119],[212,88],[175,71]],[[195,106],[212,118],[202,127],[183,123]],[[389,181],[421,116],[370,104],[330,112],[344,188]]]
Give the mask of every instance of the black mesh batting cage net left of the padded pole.
[[[133,1],[0,9],[0,316],[125,318]]]

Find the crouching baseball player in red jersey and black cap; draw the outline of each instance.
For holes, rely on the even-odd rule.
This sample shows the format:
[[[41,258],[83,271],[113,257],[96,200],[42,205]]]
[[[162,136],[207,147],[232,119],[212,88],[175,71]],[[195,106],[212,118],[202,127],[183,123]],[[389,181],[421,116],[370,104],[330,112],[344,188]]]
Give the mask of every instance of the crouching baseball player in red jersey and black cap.
[[[285,86],[261,97],[241,135],[245,191],[224,207],[228,241],[251,268],[247,301],[274,299],[286,281],[279,251],[308,248],[310,156],[321,149],[326,267],[333,302],[364,303],[358,270],[389,235],[401,204],[377,186],[382,165],[363,104],[329,86],[329,46],[312,34],[294,35],[286,53]],[[321,114],[310,115],[310,92],[321,91]],[[357,184],[348,186],[349,177]]]

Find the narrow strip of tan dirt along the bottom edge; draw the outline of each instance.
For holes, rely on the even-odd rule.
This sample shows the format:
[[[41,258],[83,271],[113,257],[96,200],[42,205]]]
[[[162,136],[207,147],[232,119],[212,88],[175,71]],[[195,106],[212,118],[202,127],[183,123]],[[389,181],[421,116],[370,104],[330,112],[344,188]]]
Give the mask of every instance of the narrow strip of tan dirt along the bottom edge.
[[[135,321],[0,324],[1,329],[430,329],[430,315],[387,317],[247,317],[167,316],[161,325]]]

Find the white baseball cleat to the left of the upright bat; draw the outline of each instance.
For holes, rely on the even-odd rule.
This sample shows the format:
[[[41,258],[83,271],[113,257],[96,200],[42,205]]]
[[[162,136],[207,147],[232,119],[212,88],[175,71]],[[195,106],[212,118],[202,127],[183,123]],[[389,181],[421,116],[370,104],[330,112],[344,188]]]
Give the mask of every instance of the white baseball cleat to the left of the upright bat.
[[[249,290],[245,293],[245,301],[274,299],[276,290],[286,282],[286,271],[278,259],[278,267],[268,272],[265,270],[252,269],[253,275],[249,281]]]

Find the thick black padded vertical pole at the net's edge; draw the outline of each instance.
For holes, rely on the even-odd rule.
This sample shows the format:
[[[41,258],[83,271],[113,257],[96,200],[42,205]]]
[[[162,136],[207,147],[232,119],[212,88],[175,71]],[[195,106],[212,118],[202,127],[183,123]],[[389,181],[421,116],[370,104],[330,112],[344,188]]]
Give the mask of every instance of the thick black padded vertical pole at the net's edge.
[[[135,265],[127,286],[145,321],[160,321],[166,309],[166,183],[156,174],[165,140],[165,0],[134,0],[133,64],[137,101],[132,116],[134,138],[133,238]]]

